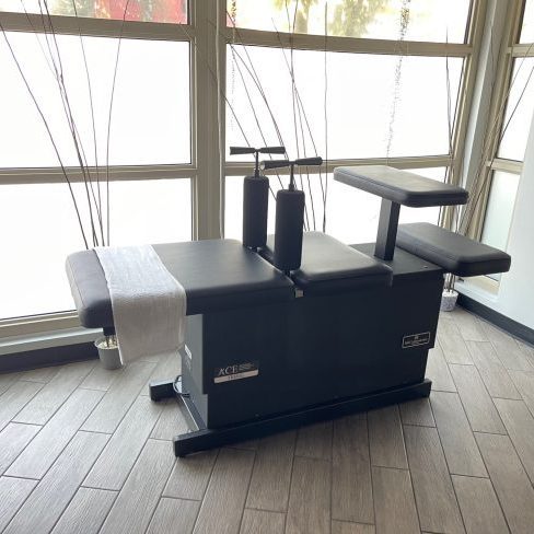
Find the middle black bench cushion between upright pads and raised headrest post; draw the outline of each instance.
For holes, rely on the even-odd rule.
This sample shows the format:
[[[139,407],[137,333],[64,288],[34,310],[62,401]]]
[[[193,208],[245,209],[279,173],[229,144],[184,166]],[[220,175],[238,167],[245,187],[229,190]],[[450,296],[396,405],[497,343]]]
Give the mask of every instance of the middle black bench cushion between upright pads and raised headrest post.
[[[275,236],[263,252],[272,258]],[[322,232],[305,232],[300,269],[291,274],[305,294],[348,291],[363,286],[390,286],[393,272],[386,265],[355,251]]]

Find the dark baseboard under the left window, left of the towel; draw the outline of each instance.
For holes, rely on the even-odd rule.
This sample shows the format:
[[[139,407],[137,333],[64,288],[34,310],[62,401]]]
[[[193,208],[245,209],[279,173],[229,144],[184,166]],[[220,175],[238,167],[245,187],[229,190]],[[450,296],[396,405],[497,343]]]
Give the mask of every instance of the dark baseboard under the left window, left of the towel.
[[[98,358],[93,343],[47,347],[0,356],[0,374]]]

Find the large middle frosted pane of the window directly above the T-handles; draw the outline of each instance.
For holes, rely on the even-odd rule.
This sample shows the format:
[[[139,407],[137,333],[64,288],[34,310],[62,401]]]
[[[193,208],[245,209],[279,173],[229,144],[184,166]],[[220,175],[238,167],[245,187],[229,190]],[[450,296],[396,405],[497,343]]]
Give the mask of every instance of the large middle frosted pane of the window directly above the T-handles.
[[[462,63],[229,47],[228,146],[281,142],[290,156],[324,156],[327,129],[329,159],[448,154],[448,106],[456,105]]]

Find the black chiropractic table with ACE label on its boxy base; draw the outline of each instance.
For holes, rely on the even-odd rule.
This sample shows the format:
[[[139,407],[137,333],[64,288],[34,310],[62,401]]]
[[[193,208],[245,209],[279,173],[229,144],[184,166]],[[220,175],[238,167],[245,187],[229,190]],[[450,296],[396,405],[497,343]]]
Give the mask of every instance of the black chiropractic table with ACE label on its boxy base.
[[[150,385],[153,400],[182,400],[191,431],[175,438],[176,455],[428,396],[443,275],[509,269],[510,256],[487,245],[398,225],[400,206],[462,205],[464,189],[386,166],[339,167],[334,178],[382,197],[376,243],[304,232],[290,269],[275,262],[278,224],[260,246],[154,245],[187,294],[182,375]],[[70,255],[67,271],[82,324],[113,333],[94,251]]]

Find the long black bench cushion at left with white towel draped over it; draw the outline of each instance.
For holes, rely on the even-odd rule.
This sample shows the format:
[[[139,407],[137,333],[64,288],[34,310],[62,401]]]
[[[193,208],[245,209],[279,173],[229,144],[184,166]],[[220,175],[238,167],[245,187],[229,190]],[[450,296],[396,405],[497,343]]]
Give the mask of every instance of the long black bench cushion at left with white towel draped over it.
[[[153,245],[187,294],[187,315],[270,304],[294,298],[294,286],[256,253],[234,240]],[[107,283],[94,251],[71,254],[67,274],[83,326],[113,326]]]

